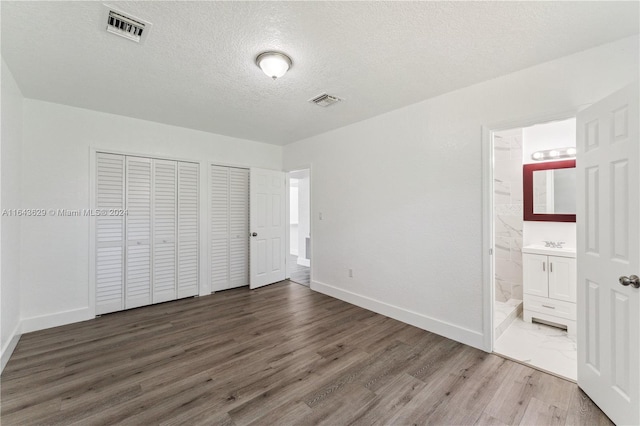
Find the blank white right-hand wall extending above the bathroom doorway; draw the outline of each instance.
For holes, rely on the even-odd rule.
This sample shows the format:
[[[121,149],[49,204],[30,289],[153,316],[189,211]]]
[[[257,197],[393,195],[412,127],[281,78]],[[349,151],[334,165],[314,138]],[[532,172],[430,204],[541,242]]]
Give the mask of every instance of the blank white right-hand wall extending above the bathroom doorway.
[[[605,97],[638,78],[638,47],[624,39],[286,146],[285,169],[313,166],[311,288],[489,349],[482,126]]]

